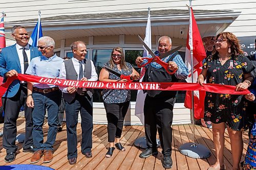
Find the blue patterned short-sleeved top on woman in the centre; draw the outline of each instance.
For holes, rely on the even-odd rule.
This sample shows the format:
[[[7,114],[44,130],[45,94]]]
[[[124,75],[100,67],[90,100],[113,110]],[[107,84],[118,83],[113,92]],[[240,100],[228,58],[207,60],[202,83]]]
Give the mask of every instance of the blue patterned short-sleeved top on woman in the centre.
[[[117,66],[115,65],[112,69],[118,72],[121,75],[129,76],[133,72],[133,66],[130,63],[125,62],[126,66],[128,67],[127,70],[118,70]],[[110,62],[107,62],[102,65],[102,67],[109,67]],[[113,73],[109,72],[109,79],[111,80],[118,80],[120,77],[114,75]],[[102,98],[105,103],[124,103],[131,100],[131,90],[118,90],[118,89],[103,89],[102,91]]]

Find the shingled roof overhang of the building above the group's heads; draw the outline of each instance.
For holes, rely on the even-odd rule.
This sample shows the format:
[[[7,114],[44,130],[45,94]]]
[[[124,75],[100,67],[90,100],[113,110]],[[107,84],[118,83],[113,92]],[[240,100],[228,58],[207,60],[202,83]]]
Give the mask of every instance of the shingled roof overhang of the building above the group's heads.
[[[241,12],[221,10],[194,10],[194,15],[202,37],[215,36],[225,30]],[[151,11],[152,35],[168,35],[186,39],[188,30],[188,10]],[[26,27],[32,32],[37,19],[11,21],[5,23],[7,38],[14,25]],[[84,36],[144,35],[147,11],[100,13],[82,15],[62,15],[41,18],[43,35],[55,40]],[[180,30],[185,34],[181,34]],[[9,33],[8,33],[9,32]]]

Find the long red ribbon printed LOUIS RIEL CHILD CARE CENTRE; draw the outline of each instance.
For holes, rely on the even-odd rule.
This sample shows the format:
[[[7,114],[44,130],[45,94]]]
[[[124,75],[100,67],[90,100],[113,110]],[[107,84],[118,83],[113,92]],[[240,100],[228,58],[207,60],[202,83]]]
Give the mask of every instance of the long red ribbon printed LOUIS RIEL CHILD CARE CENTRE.
[[[31,75],[18,74],[7,79],[5,83],[0,86],[0,97],[4,95],[9,85],[13,80],[34,82],[41,84],[54,84],[58,86],[75,86],[85,88],[108,88],[108,89],[132,89],[132,90],[202,90],[223,94],[248,94],[249,90],[235,91],[236,86],[220,85],[220,84],[203,84],[200,86],[198,83],[150,83],[150,82],[99,82],[99,81],[76,81],[64,79],[52,79]]]

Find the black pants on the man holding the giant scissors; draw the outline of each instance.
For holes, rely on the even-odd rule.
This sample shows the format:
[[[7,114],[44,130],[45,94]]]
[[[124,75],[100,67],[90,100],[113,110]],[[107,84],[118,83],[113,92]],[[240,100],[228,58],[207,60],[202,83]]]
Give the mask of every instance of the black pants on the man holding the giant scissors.
[[[157,148],[157,130],[160,137],[162,153],[172,154],[173,108],[176,98],[152,98],[146,95],[144,102],[145,134],[148,148]]]

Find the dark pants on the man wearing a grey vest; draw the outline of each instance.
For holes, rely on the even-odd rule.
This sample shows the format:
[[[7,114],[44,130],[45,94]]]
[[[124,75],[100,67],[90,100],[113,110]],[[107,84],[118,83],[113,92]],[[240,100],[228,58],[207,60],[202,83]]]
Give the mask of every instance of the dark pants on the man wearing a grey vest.
[[[68,140],[68,159],[77,158],[77,133],[78,113],[81,115],[82,142],[81,152],[86,154],[92,151],[93,131],[93,99],[86,95],[76,94],[75,99],[66,102],[66,124]]]

